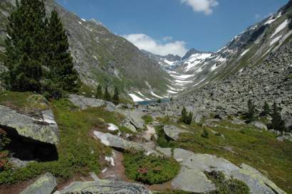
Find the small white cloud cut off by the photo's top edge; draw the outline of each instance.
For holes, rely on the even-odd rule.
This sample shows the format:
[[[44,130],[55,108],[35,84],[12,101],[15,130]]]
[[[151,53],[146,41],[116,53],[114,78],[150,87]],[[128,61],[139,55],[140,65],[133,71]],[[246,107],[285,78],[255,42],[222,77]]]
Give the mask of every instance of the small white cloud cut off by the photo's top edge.
[[[213,8],[219,5],[217,0],[181,0],[181,2],[192,6],[194,12],[204,11],[206,15],[212,14]]]

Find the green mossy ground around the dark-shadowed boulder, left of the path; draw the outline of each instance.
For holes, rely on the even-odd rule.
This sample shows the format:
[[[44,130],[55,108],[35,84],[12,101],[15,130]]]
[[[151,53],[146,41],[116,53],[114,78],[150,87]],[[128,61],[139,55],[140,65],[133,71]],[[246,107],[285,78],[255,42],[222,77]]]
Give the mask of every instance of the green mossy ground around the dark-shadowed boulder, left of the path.
[[[5,97],[1,95],[0,103],[10,102],[22,107],[29,95],[31,93],[7,92]],[[76,174],[85,176],[91,171],[100,172],[100,157],[110,155],[111,150],[90,136],[90,131],[95,129],[95,126],[100,126],[98,118],[118,125],[122,116],[107,112],[103,108],[80,111],[67,99],[54,101],[49,105],[53,109],[60,132],[58,161],[34,162],[26,168],[3,171],[0,173],[0,184],[28,180],[45,172],[53,173],[59,182],[66,181]]]

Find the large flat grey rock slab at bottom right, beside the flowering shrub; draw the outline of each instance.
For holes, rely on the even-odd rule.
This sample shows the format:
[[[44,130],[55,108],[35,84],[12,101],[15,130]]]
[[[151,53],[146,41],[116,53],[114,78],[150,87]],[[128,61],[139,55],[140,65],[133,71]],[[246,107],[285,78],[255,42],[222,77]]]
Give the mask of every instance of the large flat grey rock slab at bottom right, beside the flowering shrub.
[[[251,190],[251,194],[285,194],[271,180],[246,164],[238,167],[224,158],[218,158],[210,154],[192,153],[184,149],[174,149],[173,156],[182,166],[179,175],[172,181],[172,185],[177,189],[194,193],[198,191],[200,191],[199,193],[208,192],[213,188],[207,177],[203,175],[204,171],[221,171],[226,176],[233,176],[246,183]],[[193,173],[189,173],[189,171],[193,171]],[[186,180],[188,182],[192,180],[192,183],[183,184]]]

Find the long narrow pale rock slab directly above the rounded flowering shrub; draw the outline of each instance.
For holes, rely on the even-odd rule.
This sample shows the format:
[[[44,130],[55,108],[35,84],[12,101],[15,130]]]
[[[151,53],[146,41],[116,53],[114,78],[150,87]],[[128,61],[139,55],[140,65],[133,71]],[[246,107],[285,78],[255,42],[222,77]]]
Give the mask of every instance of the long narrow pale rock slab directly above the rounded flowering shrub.
[[[138,144],[136,142],[127,141],[125,139],[122,139],[120,136],[115,136],[113,134],[105,134],[100,131],[94,131],[93,134],[100,139],[101,143],[105,146],[110,146],[113,149],[122,150],[125,149],[136,149],[136,150],[142,150],[145,151],[146,155],[154,154],[156,156],[162,156],[162,154],[158,153],[157,151],[153,149],[149,149],[146,146],[143,146],[142,144]]]

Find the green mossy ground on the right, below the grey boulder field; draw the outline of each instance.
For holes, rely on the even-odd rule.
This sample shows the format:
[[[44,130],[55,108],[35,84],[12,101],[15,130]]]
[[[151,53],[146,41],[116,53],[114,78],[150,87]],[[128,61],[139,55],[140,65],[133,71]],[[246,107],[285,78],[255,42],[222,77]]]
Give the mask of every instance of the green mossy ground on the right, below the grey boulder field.
[[[163,124],[180,124],[171,119],[160,119]],[[201,136],[206,129],[209,138]],[[246,163],[271,179],[279,188],[292,193],[292,142],[278,141],[276,135],[261,131],[247,124],[217,123],[217,127],[203,127],[192,124],[187,130],[192,134],[181,134],[179,141],[167,141],[161,127],[157,129],[157,144],[162,147],[177,147],[194,153],[209,153],[225,158],[236,165]],[[216,133],[214,133],[216,132]],[[222,137],[222,136],[224,137]]]

